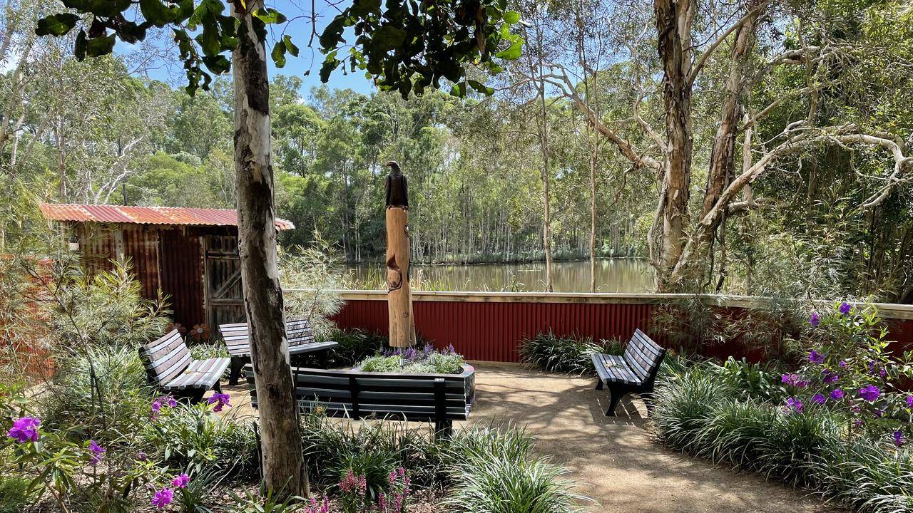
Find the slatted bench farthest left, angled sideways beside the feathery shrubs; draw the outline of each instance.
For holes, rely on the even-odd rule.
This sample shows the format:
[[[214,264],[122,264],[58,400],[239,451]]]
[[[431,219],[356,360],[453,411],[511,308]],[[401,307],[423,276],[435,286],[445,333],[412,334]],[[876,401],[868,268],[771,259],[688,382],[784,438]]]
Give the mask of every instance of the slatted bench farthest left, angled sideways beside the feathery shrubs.
[[[229,363],[227,358],[194,360],[178,330],[140,346],[140,359],[151,382],[194,403],[200,402],[209,389],[222,393],[219,379]]]

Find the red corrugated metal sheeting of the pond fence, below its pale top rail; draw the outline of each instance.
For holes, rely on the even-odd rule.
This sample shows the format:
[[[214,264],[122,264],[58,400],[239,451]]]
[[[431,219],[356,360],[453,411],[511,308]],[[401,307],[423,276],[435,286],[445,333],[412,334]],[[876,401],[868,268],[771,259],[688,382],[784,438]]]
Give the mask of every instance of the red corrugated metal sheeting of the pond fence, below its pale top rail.
[[[453,344],[467,360],[518,361],[519,340],[542,331],[593,339],[628,340],[635,328],[649,332],[654,305],[519,301],[414,300],[415,330],[438,347]],[[387,332],[387,302],[348,299],[334,317],[340,328]],[[887,319],[896,352],[913,351],[913,320]],[[655,337],[664,344],[666,341]],[[714,345],[707,355],[761,358],[738,343]]]

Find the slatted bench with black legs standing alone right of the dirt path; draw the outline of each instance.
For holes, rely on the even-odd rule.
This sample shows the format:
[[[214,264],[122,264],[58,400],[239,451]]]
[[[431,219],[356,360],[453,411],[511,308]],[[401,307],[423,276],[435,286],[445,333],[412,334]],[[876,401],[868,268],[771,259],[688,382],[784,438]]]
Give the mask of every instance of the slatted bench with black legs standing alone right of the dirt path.
[[[641,394],[647,413],[652,410],[656,372],[666,356],[665,349],[643,331],[635,330],[623,355],[593,352],[590,356],[596,373],[599,374],[596,390],[603,390],[603,385],[609,387],[610,401],[606,416],[615,415],[615,406],[628,393]]]

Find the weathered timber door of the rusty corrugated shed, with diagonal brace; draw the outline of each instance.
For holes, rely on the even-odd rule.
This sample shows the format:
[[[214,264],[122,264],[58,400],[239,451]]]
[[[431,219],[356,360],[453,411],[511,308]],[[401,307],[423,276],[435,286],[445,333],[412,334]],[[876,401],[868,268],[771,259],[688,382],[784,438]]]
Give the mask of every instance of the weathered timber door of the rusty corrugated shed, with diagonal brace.
[[[205,236],[206,319],[212,330],[227,322],[244,322],[241,260],[237,236]]]

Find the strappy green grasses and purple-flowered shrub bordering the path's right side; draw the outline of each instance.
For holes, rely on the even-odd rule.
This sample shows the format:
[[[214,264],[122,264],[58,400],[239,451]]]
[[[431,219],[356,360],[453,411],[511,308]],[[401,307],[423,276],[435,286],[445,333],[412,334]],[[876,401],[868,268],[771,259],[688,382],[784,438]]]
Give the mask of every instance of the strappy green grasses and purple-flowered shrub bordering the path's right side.
[[[656,437],[713,461],[810,487],[858,511],[913,507],[908,357],[887,356],[870,306],[814,312],[805,361],[785,372],[729,360],[666,365]]]

